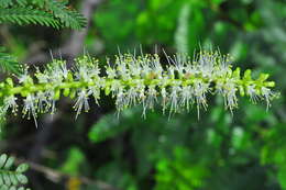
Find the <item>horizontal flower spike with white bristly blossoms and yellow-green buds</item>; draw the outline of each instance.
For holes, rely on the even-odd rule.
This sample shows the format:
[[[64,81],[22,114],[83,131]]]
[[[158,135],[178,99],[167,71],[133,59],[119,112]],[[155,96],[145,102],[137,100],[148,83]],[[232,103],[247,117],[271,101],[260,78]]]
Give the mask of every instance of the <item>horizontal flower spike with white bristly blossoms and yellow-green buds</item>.
[[[167,56],[167,65],[162,65],[158,55],[131,54],[119,55],[113,65],[107,59],[105,69],[99,60],[90,56],[76,59],[75,67],[67,69],[65,60],[54,59],[45,69],[36,68],[34,75],[24,74],[15,79],[7,78],[0,82],[0,112],[11,109],[14,113],[23,99],[23,115],[55,112],[56,101],[61,97],[75,100],[76,116],[88,111],[91,97],[98,103],[100,93],[111,94],[116,99],[118,111],[141,104],[143,115],[156,103],[163,112],[189,111],[196,105],[198,111],[207,109],[208,94],[219,94],[229,110],[238,108],[238,97],[249,97],[252,102],[265,100],[267,108],[277,97],[273,92],[274,81],[267,74],[253,79],[251,70],[241,75],[240,68],[232,69],[229,55],[219,52],[201,51],[194,59],[183,55]]]

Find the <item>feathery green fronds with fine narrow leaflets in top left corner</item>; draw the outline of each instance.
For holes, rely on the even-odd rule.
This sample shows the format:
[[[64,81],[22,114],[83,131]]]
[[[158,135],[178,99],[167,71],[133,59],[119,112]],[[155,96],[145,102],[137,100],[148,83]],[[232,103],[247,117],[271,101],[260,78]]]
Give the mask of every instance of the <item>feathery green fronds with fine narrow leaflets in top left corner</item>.
[[[2,0],[0,23],[40,24],[55,29],[79,30],[86,26],[86,19],[67,7],[67,1],[57,0]]]

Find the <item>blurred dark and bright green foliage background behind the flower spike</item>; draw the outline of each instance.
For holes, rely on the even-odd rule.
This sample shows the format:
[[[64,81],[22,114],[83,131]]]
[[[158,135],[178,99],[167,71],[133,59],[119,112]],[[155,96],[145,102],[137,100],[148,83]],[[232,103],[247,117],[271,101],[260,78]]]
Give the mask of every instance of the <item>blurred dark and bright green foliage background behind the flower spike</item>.
[[[22,63],[55,57],[73,63],[88,52],[105,60],[121,52],[160,55],[219,48],[233,66],[265,71],[282,97],[266,111],[240,99],[233,115],[223,100],[207,111],[163,115],[142,108],[117,116],[102,96],[75,120],[64,99],[52,118],[11,116],[1,152],[32,163],[34,190],[286,190],[286,1],[285,0],[73,0],[89,19],[79,32],[44,26],[0,26],[0,42]],[[89,12],[88,12],[89,11]],[[67,48],[68,47],[68,48]],[[52,51],[51,51],[52,49]],[[68,49],[68,51],[67,51]],[[101,66],[105,66],[102,62]]]

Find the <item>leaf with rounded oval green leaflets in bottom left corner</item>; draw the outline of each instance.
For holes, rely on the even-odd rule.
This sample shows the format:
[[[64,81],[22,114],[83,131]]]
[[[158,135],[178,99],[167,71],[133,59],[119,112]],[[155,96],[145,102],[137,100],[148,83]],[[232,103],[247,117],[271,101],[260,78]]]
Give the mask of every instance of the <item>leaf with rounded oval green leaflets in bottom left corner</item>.
[[[23,172],[29,168],[26,164],[19,165],[12,169],[14,157],[2,154],[0,156],[0,189],[1,190],[29,190],[23,185],[28,183],[28,178]]]

